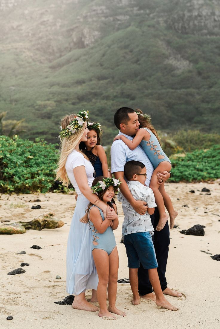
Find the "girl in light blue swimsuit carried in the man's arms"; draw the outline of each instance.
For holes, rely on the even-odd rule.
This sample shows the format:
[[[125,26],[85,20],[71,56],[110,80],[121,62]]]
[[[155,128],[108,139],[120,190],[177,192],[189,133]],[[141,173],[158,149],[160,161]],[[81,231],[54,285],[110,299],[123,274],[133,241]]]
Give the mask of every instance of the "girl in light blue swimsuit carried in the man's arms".
[[[147,154],[154,167],[154,171],[151,176],[150,188],[153,190],[155,201],[160,214],[156,230],[160,231],[164,228],[167,222],[168,215],[165,212],[165,207],[170,215],[170,229],[174,227],[175,218],[178,212],[174,210],[171,199],[164,189],[164,183],[158,185],[157,173],[171,170],[170,159],[166,156],[161,148],[157,131],[151,124],[150,117],[143,114],[141,110],[135,111],[138,114],[138,121],[140,123],[140,129],[133,138],[133,140],[127,139],[123,135],[117,135],[115,139],[122,139],[122,141],[129,147],[130,150],[134,150],[139,144]],[[114,139],[114,140],[115,140]],[[165,205],[165,207],[164,207]]]

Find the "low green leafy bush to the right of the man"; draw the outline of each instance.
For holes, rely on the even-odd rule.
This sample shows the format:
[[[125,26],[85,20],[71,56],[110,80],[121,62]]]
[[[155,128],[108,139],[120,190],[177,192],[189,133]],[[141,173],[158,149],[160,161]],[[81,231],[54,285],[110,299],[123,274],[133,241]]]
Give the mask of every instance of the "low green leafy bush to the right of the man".
[[[220,177],[220,144],[208,150],[196,150],[185,156],[172,156],[172,177],[169,181],[207,181]]]

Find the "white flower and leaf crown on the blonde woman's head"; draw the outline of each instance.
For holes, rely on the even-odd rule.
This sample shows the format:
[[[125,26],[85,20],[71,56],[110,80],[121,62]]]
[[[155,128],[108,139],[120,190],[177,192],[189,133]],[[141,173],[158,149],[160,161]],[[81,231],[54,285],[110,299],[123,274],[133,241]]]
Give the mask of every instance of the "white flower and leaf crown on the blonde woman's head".
[[[74,119],[69,123],[69,125],[66,128],[62,128],[60,126],[60,129],[62,130],[60,132],[60,137],[69,137],[72,134],[74,134],[77,130],[82,129],[83,123],[85,123],[89,119],[89,111],[79,111],[78,114],[74,115]]]

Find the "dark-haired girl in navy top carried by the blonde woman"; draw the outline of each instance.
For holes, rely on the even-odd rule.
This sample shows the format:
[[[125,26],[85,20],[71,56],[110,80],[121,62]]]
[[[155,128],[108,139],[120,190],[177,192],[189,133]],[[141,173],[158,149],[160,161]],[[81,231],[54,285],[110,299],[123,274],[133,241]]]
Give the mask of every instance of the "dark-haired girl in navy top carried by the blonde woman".
[[[95,177],[106,176],[108,177],[108,163],[105,150],[101,142],[101,125],[99,122],[88,122],[87,128],[87,141],[81,142],[79,148],[89,158],[91,164],[95,169]]]

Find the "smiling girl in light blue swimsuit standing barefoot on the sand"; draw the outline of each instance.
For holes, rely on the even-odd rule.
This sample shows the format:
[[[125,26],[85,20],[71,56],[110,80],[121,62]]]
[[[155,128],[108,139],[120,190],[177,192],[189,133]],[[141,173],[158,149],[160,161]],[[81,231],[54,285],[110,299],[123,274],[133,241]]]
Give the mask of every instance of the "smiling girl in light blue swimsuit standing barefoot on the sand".
[[[114,202],[114,195],[118,192],[120,184],[119,180],[114,178],[99,176],[94,179],[91,188],[93,193],[97,194],[98,199],[111,207],[116,214],[117,208]],[[92,254],[98,273],[97,297],[100,306],[98,315],[116,319],[112,313],[125,316],[125,313],[115,306],[119,257],[113,230],[117,229],[119,221],[118,218],[113,221],[105,219],[102,210],[92,203],[89,204],[87,213],[91,226],[91,239],[93,243]],[[108,308],[106,305],[107,286]]]

